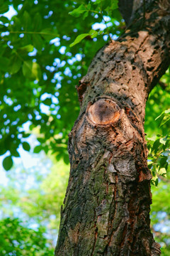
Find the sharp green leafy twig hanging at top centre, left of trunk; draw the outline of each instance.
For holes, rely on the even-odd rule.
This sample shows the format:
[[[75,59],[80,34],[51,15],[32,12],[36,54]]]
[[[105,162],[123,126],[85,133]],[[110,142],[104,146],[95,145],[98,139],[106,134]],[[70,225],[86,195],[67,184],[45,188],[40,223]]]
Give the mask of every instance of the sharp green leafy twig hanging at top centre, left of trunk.
[[[77,43],[81,42],[86,36],[90,36],[92,39],[100,35],[109,35],[108,26],[104,16],[112,16],[113,10],[118,9],[118,0],[96,0],[94,2],[89,1],[89,4],[81,4],[77,9],[70,11],[69,14],[74,17],[79,17],[82,15],[82,18],[89,16],[89,13],[97,14],[101,16],[102,20],[106,25],[106,33],[103,31],[96,31],[91,29],[89,33],[82,33],[74,40],[70,46],[75,46]],[[111,36],[110,36],[111,38]],[[112,40],[112,38],[111,38]]]

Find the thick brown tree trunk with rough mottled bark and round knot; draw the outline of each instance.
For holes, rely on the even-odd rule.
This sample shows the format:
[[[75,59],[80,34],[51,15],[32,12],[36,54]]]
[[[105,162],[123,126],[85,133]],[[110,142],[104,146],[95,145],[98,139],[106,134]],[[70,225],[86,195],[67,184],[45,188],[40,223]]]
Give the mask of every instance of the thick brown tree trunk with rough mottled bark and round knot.
[[[128,31],[98,51],[77,87],[81,111],[69,134],[57,256],[160,255],[149,228],[143,124],[149,92],[169,65],[170,4],[145,7],[145,24],[141,6]]]

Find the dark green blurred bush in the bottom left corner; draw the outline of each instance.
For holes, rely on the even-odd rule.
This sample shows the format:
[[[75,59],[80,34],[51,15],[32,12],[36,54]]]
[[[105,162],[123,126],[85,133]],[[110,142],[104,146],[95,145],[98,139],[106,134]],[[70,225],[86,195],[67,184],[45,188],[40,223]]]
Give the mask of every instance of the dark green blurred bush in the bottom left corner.
[[[18,218],[2,219],[0,225],[1,256],[53,255],[53,250],[43,235],[44,229],[26,228]]]

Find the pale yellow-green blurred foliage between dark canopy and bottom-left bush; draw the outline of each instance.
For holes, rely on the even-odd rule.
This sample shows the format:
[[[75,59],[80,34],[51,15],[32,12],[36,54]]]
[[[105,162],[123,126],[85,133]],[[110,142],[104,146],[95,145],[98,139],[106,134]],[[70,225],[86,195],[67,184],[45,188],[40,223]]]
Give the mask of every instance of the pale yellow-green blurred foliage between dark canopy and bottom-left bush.
[[[40,154],[39,158],[42,161],[44,155]],[[37,170],[22,170],[20,166],[20,171],[15,168],[9,172],[8,187],[0,186],[0,206],[3,218],[22,217],[30,223],[38,223],[45,226],[47,233],[56,240],[69,166],[62,160],[56,162],[55,158],[51,159],[52,168],[46,167],[45,174],[40,173],[40,167]],[[44,166],[48,166],[48,161],[44,161]]]

